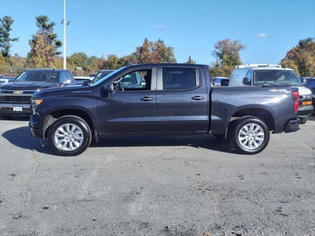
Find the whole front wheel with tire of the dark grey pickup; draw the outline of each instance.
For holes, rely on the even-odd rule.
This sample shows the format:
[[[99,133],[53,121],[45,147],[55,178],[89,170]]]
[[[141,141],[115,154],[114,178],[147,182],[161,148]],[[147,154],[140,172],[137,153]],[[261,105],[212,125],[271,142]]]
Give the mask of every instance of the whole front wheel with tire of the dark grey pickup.
[[[76,156],[90,146],[92,133],[84,119],[64,116],[49,127],[47,137],[50,147],[57,155]]]

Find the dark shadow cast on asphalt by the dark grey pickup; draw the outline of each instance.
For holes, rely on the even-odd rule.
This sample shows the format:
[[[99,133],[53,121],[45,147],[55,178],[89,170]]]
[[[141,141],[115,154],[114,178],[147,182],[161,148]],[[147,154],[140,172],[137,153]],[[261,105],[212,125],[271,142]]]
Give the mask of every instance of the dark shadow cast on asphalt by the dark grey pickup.
[[[54,154],[47,140],[45,147],[40,145],[38,139],[31,136],[29,127],[19,127],[11,129],[2,134],[2,137],[8,140],[16,147],[36,150],[41,153]],[[228,153],[238,153],[231,148],[226,140],[219,140],[214,136],[135,136],[135,137],[106,137],[101,138],[98,143],[92,142],[90,148],[109,148],[109,147],[171,147],[171,146],[190,146],[193,148],[206,148],[213,151],[222,151]]]

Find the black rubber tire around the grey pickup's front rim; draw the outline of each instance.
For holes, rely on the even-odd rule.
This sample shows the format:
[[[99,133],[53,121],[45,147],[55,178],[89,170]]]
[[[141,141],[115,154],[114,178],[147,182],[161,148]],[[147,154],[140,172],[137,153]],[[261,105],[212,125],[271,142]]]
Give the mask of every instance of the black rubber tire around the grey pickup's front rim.
[[[63,124],[74,124],[78,126],[82,130],[83,134],[83,141],[79,148],[73,150],[73,151],[66,151],[62,148],[58,147],[55,141],[55,132],[56,130]],[[92,132],[88,125],[88,123],[77,116],[64,116],[59,119],[57,119],[48,129],[47,133],[48,143],[52,150],[60,156],[76,156],[84,152],[91,144],[92,140]]]

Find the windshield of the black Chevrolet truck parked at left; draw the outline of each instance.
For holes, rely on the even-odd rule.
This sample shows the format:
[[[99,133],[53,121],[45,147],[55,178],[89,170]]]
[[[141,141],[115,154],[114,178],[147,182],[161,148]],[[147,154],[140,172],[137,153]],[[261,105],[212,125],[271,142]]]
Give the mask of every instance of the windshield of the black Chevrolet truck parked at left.
[[[28,70],[23,71],[16,79],[15,82],[34,81],[34,82],[56,82],[58,71],[43,71],[43,70]]]

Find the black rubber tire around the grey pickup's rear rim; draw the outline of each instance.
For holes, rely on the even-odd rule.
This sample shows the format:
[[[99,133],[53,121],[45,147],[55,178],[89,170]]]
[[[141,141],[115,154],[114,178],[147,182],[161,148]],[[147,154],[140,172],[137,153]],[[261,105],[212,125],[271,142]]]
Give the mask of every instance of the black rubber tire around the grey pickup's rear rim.
[[[238,139],[238,134],[241,131],[241,129],[246,125],[246,124],[257,124],[261,127],[261,129],[264,132],[264,138],[263,141],[261,143],[261,145],[257,148],[253,148],[253,149],[248,149],[245,148],[241,145],[239,139]],[[242,154],[256,154],[261,152],[263,149],[265,149],[269,143],[269,139],[270,139],[270,132],[269,132],[269,128],[267,126],[267,124],[257,118],[257,117],[244,117],[244,118],[239,118],[235,121],[235,123],[232,125],[232,127],[229,127],[228,130],[228,138],[231,142],[231,144],[233,145],[233,147],[240,153]]]

